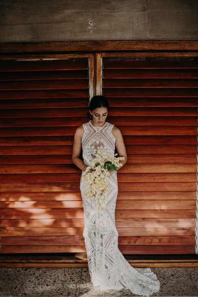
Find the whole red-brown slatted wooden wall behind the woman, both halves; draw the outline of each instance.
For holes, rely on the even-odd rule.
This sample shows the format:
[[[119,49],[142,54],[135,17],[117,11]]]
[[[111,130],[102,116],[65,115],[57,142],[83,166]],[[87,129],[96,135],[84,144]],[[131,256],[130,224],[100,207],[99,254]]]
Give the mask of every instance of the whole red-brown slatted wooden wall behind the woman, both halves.
[[[115,210],[121,252],[195,253],[197,58],[105,56],[88,54],[90,68],[88,57],[0,62],[0,253],[86,251],[71,154],[94,88],[128,155]]]

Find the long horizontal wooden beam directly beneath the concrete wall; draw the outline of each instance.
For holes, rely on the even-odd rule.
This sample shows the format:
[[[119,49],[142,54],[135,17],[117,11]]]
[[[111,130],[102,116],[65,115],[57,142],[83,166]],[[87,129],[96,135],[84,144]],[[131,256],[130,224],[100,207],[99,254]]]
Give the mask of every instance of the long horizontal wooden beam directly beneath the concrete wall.
[[[197,40],[1,42],[0,53],[60,51],[198,50]]]

